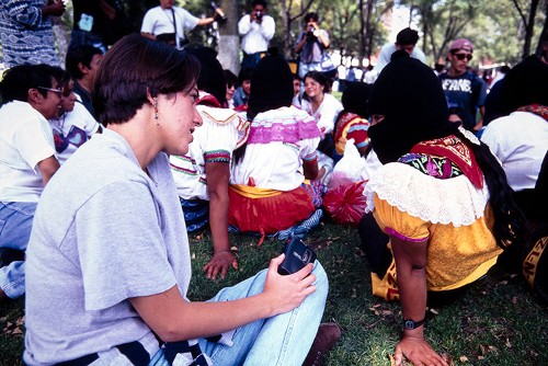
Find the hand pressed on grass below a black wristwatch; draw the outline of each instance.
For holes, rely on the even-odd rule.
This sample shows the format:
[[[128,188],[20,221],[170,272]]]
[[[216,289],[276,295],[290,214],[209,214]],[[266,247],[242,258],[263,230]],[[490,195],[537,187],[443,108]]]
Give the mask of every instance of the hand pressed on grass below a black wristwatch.
[[[415,366],[448,366],[423,338],[403,335],[393,354],[396,366],[403,365],[403,358]]]

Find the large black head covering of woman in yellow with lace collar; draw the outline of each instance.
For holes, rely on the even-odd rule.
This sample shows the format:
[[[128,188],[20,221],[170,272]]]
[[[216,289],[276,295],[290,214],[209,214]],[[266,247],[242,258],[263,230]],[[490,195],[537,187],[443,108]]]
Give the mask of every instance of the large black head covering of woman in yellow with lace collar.
[[[368,129],[380,162],[397,161],[425,140],[449,136],[458,125],[447,119],[447,102],[434,72],[406,50],[392,55],[369,96],[370,115],[385,118]]]

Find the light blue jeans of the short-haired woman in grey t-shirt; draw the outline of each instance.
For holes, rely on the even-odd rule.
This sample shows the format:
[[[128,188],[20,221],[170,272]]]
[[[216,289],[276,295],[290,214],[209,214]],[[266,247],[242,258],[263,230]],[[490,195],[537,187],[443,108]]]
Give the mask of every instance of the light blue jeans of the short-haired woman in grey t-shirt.
[[[318,261],[312,273],[317,278],[316,291],[300,306],[289,312],[256,320],[237,329],[232,336],[232,346],[201,339],[202,352],[212,358],[215,366],[302,365],[323,316],[329,287],[326,271]],[[265,277],[266,270],[263,270],[236,286],[221,289],[209,301],[235,300],[258,295],[263,290]],[[163,364],[164,359],[160,357],[153,365]]]

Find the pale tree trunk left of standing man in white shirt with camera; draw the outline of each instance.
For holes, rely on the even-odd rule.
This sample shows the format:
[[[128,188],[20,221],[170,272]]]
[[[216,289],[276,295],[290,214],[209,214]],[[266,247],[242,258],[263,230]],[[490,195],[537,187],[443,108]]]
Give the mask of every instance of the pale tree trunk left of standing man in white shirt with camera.
[[[238,0],[221,0],[220,8],[225,11],[227,21],[219,23],[218,56],[224,69],[235,75],[240,72],[240,37],[238,35]]]

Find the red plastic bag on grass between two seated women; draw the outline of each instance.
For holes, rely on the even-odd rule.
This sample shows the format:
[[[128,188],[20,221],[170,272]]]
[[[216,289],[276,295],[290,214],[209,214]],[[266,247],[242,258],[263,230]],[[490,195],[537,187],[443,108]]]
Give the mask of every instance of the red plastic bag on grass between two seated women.
[[[329,190],[323,196],[323,207],[334,222],[357,227],[365,214],[364,186],[367,182],[345,182]]]

